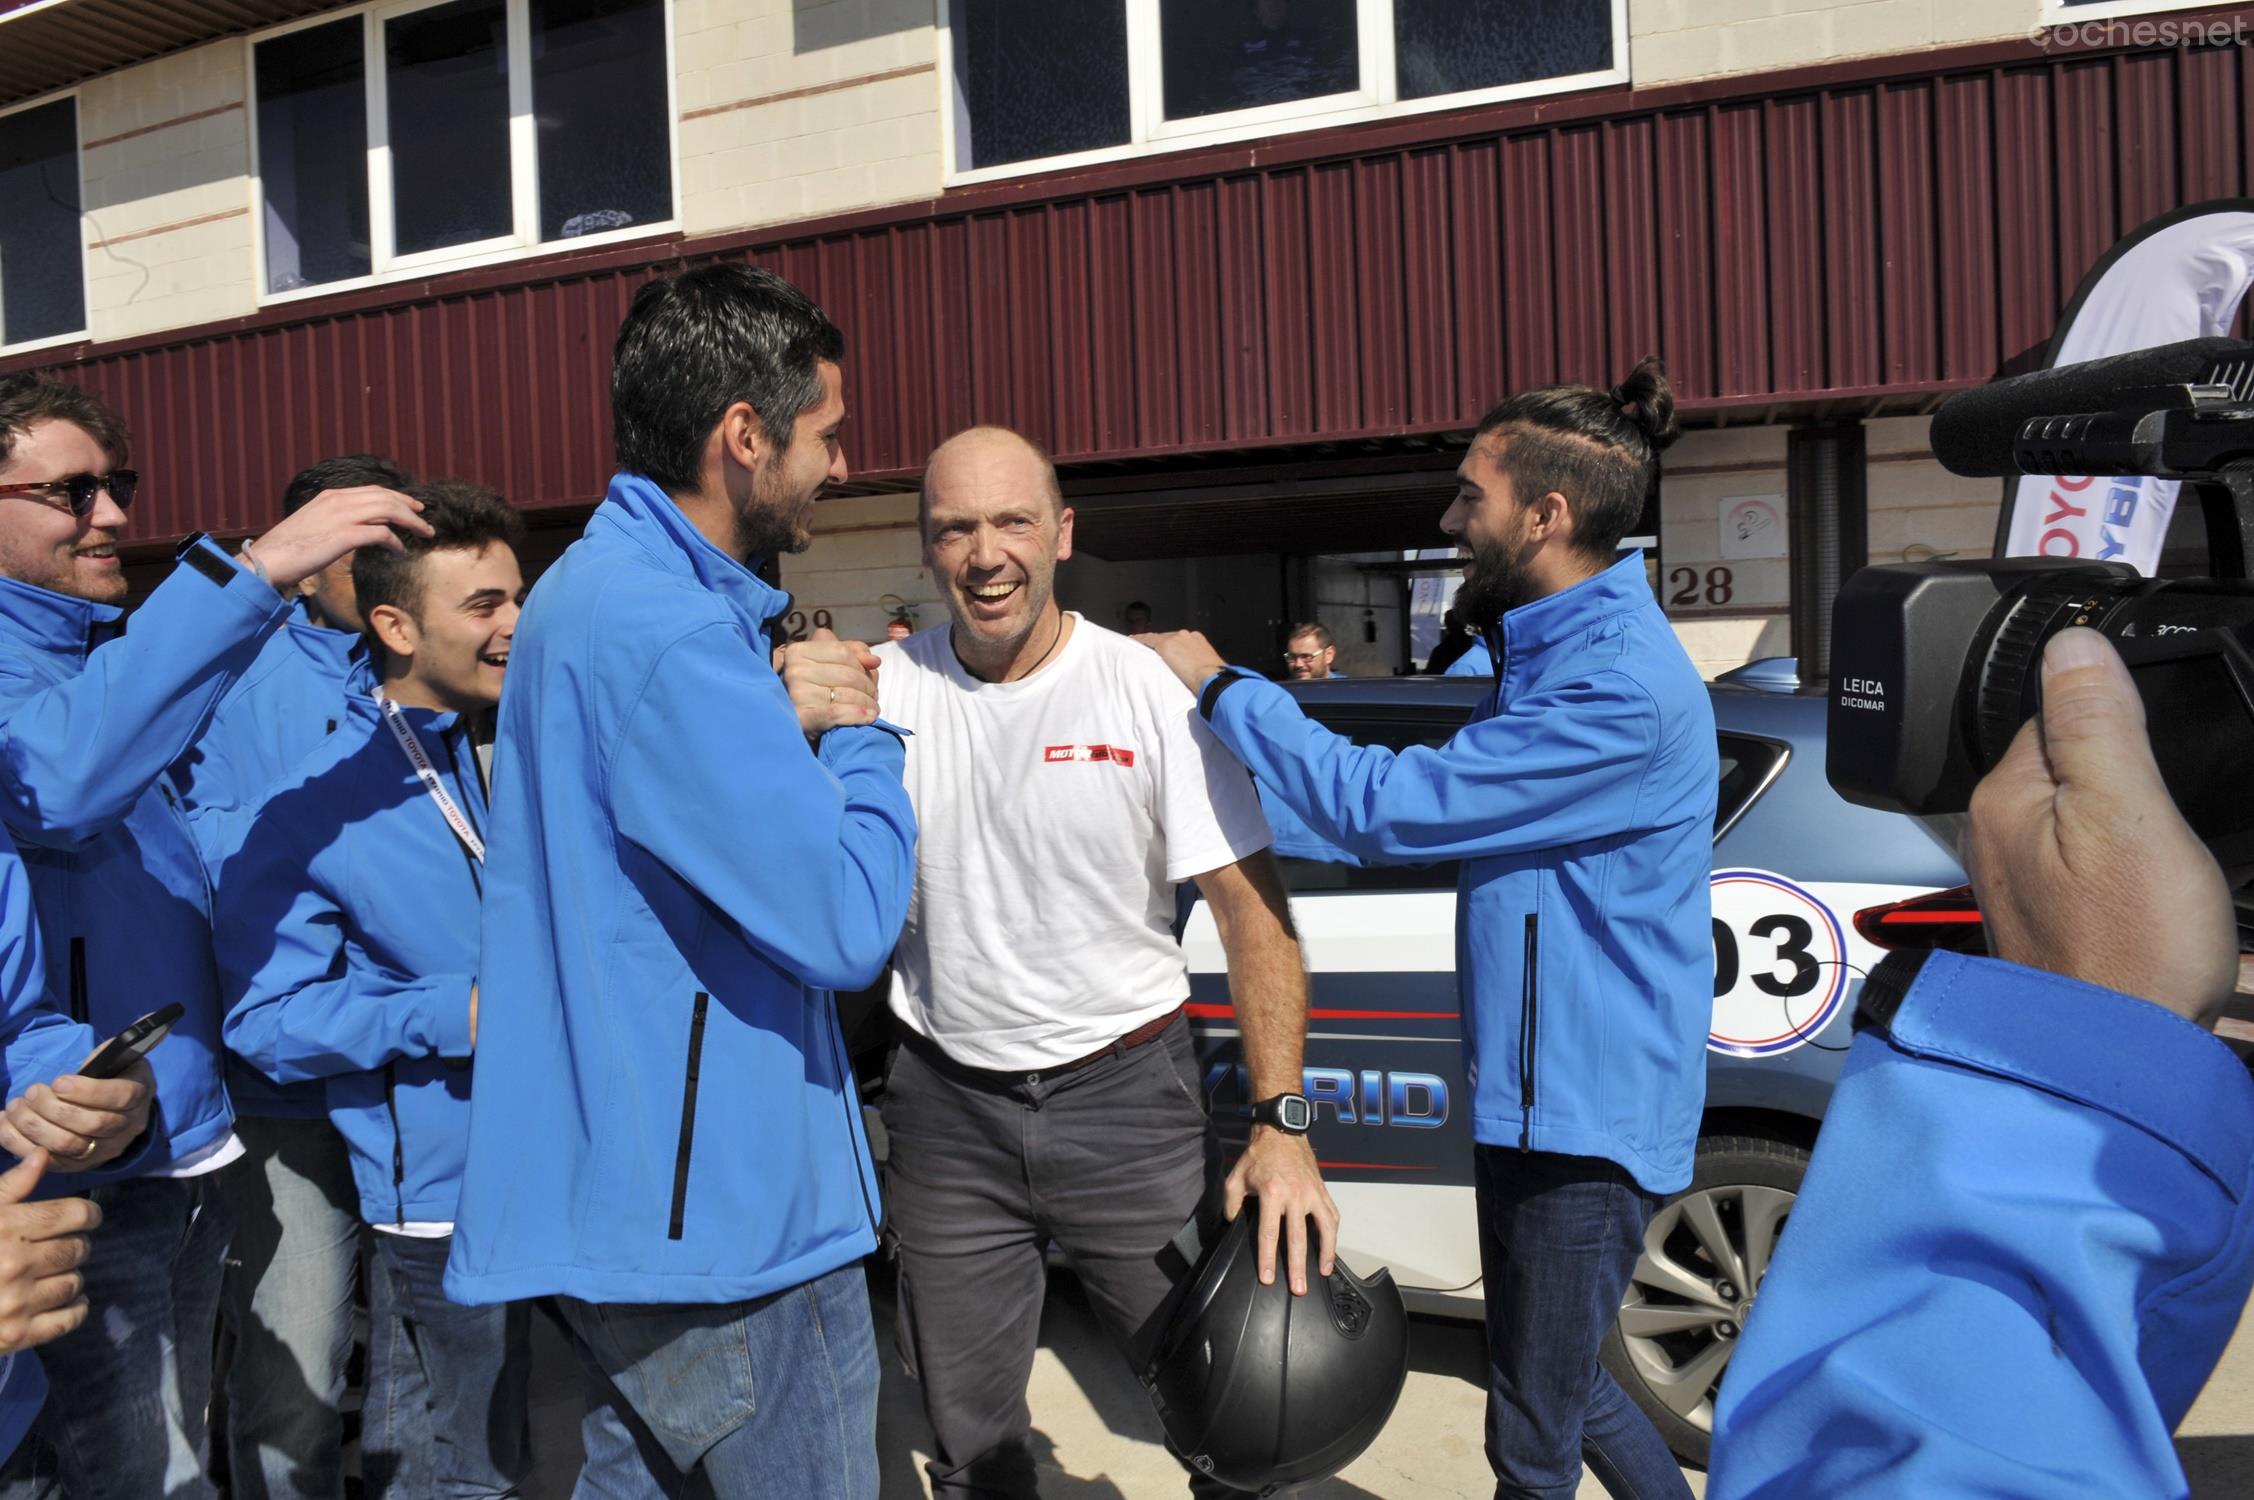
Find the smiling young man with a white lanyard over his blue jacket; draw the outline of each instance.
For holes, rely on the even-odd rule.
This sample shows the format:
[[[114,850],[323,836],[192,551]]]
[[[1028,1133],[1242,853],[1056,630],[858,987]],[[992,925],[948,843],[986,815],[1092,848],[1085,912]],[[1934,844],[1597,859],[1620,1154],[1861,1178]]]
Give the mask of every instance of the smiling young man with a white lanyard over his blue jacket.
[[[440,1277],[469,1144],[480,756],[516,636],[523,521],[473,485],[408,494],[433,535],[354,562],[381,679],[354,670],[343,726],[259,798],[225,864],[225,1035],[275,1083],[325,1083],[352,1148],[376,1229],[370,1493],[514,1495],[530,1304],[455,1306]]]

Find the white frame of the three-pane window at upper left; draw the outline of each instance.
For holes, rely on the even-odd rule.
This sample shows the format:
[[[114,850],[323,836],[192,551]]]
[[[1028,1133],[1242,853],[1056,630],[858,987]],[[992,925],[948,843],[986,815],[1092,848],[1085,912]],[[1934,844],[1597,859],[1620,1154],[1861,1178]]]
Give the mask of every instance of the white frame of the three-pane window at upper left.
[[[417,250],[412,255],[394,253],[394,223],[392,223],[392,142],[390,142],[390,90],[385,88],[385,52],[383,52],[383,23],[399,16],[412,16],[415,11],[428,11],[449,0],[376,0],[374,5],[361,5],[340,11],[322,11],[318,16],[307,16],[304,20],[293,20],[289,25],[268,27],[257,36],[243,38],[243,77],[248,86],[243,90],[246,108],[250,111],[250,253],[257,259],[255,280],[259,289],[259,307],[275,302],[302,302],[307,298],[325,298],[338,291],[354,291],[358,286],[383,286],[385,282],[406,282],[417,277],[428,277],[442,271],[471,271],[476,266],[494,266],[512,259],[532,259],[539,255],[564,255],[573,250],[595,250],[611,244],[624,244],[631,239],[654,239],[658,235],[674,235],[681,230],[681,108],[678,92],[681,81],[676,77],[676,54],[674,54],[674,5],[676,0],[658,0],[665,16],[665,171],[672,185],[674,212],[656,223],[629,223],[620,230],[604,230],[600,235],[579,235],[575,239],[541,239],[541,162],[539,162],[539,131],[532,120],[532,5],[530,0],[505,0],[507,14],[507,63],[509,63],[509,205],[516,221],[514,232],[494,239],[478,239],[460,246],[444,246],[437,250]],[[361,20],[361,79],[367,88],[367,259],[370,273],[343,277],[336,282],[318,282],[313,286],[291,286],[289,291],[268,291],[266,273],[266,178],[259,171],[259,43],[286,36],[291,32],[309,32],[313,27],[334,25],[338,20]]]

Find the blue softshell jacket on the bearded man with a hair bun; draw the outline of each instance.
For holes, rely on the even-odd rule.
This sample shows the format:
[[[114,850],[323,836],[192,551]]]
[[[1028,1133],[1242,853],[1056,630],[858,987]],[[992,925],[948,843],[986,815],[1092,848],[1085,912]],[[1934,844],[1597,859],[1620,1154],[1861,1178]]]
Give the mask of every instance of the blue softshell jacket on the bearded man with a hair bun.
[[[1490,645],[1494,695],[1436,749],[1359,747],[1258,677],[1201,702],[1319,839],[1463,862],[1474,1139],[1605,1157],[1672,1193],[1690,1184],[1713,1022],[1706,683],[1641,557],[1512,609]]]

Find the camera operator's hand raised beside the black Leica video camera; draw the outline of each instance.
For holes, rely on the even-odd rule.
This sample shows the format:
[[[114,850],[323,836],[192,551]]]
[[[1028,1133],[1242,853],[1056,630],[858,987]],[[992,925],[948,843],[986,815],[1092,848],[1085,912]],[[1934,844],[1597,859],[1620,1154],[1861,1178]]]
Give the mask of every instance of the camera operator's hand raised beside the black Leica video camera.
[[[1972,794],[1965,866],[1999,959],[2200,1026],[2236,986],[2229,886],[2168,798],[2144,699],[2094,629],[2044,650],[2042,713]]]

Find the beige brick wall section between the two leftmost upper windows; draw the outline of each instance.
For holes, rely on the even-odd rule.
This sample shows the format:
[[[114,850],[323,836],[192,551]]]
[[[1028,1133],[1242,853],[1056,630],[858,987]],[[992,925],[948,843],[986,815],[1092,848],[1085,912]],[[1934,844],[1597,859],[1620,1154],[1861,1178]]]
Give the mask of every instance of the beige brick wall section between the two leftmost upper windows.
[[[79,90],[88,325],[95,338],[257,309],[241,41]]]

